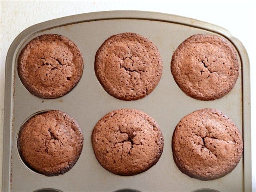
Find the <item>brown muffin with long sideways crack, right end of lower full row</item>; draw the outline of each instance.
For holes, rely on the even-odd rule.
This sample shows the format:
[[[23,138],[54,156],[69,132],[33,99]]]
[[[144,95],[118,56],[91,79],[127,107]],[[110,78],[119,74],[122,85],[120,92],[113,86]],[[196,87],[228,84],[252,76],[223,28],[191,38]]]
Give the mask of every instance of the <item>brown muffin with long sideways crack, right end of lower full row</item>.
[[[178,168],[200,180],[230,173],[242,157],[243,141],[236,125],[216,109],[186,115],[172,136],[173,158]]]

